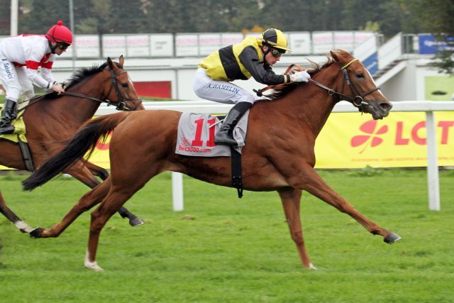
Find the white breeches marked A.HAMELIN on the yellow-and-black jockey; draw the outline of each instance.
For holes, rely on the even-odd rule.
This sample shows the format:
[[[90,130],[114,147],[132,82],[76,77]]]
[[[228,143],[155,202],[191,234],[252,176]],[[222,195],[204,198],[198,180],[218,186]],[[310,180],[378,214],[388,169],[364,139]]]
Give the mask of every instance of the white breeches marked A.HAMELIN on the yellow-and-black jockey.
[[[231,82],[211,79],[206,75],[204,68],[197,70],[192,88],[194,93],[201,99],[227,104],[237,104],[239,102],[253,104],[255,102],[255,97],[252,93]]]

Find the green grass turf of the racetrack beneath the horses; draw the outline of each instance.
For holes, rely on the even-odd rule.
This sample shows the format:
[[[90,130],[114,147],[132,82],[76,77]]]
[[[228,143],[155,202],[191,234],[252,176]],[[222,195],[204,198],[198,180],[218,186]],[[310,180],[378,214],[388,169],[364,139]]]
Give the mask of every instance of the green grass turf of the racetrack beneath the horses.
[[[390,246],[304,193],[301,268],[279,197],[184,178],[172,211],[170,174],[155,177],[101,233],[104,272],[83,267],[89,212],[60,238],[31,239],[0,218],[1,302],[454,302],[454,172],[442,171],[441,211],[428,211],[424,170],[322,171],[365,216],[402,240]],[[32,226],[60,221],[87,187],[63,177],[28,193],[0,177],[11,209]]]

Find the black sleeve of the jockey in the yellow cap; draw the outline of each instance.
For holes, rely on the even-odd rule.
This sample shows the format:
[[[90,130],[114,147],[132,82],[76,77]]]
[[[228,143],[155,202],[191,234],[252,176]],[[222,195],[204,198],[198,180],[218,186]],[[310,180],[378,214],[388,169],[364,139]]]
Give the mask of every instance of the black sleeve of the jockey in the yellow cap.
[[[266,67],[264,67],[264,64],[258,60],[257,50],[252,45],[244,48],[238,57],[257,82],[272,85],[288,81],[284,75],[276,75],[270,65],[265,64]]]

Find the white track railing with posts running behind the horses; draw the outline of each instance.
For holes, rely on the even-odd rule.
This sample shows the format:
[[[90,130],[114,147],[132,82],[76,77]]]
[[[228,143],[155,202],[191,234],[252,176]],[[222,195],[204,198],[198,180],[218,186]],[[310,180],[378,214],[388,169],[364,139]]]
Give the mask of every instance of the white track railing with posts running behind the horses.
[[[438,160],[436,145],[436,123],[434,111],[454,111],[454,102],[443,101],[399,101],[393,102],[392,111],[424,111],[426,112],[427,132],[427,182],[428,182],[428,208],[433,211],[440,210],[440,186],[438,180]],[[172,109],[176,111],[189,111],[199,114],[226,114],[233,105],[220,104],[212,101],[160,101],[144,102],[145,109]],[[101,106],[96,111],[97,116],[116,112],[113,106]],[[333,109],[335,113],[358,112],[348,102],[340,102]],[[179,172],[172,172],[172,197],[174,211],[183,210],[183,178]]]

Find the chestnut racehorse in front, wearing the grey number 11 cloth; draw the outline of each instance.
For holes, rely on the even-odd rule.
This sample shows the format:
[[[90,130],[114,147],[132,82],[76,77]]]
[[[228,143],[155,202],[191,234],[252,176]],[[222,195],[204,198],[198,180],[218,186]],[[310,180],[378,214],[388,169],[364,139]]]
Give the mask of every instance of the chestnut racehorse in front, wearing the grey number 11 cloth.
[[[301,229],[299,204],[302,190],[349,214],[367,231],[382,236],[386,243],[393,243],[400,237],[360,214],[314,170],[316,137],[340,99],[351,101],[360,111],[372,114],[374,119],[386,117],[392,105],[375,87],[364,65],[342,50],[332,51],[323,67],[314,64],[309,72],[314,79],[312,82],[276,88],[271,97],[273,101],[255,103],[249,114],[242,161],[243,187],[252,191],[277,190],[301,263],[306,268],[314,268]],[[346,92],[345,84],[349,87]],[[59,224],[50,230],[41,228],[40,237],[59,236],[82,211],[101,202],[92,213],[84,265],[102,270],[95,261],[101,229],[112,214],[153,176],[171,170],[206,182],[231,186],[231,160],[228,157],[197,158],[175,154],[181,114],[179,111],[118,113],[83,126],[62,153],[46,161],[40,170],[23,182],[24,189],[45,183],[63,167],[80,160],[100,136],[115,128],[110,142],[111,175],[84,194]]]

